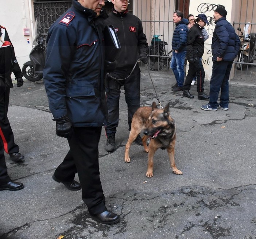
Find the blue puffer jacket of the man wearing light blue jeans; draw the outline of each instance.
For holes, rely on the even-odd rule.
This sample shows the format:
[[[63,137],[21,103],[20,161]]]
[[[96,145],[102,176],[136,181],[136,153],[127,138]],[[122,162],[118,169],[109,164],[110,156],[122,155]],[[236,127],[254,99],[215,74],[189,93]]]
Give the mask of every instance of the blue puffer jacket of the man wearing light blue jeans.
[[[173,36],[172,36],[172,50],[175,51],[186,51],[187,50],[187,33],[189,29],[187,25],[189,20],[183,18],[176,24]]]

